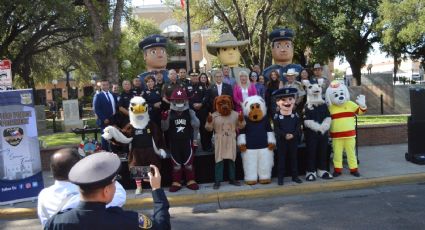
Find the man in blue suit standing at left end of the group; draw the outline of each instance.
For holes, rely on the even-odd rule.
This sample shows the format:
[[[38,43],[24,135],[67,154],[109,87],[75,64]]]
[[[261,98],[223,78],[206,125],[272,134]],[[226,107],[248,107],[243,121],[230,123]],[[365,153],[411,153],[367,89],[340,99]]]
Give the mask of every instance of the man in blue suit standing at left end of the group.
[[[101,82],[101,91],[96,95],[94,109],[97,116],[96,124],[100,127],[103,134],[103,129],[113,124],[113,118],[117,111],[117,98],[109,91],[108,80],[102,80]],[[102,149],[110,151],[109,143],[103,137]]]

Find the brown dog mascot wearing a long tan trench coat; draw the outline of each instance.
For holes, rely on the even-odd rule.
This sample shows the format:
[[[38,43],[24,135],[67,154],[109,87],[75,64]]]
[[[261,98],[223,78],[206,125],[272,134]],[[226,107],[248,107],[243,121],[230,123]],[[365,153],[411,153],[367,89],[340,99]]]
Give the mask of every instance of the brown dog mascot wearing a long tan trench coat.
[[[214,99],[213,114],[210,114],[205,129],[214,131],[215,144],[215,183],[214,189],[220,187],[223,180],[224,160],[228,160],[229,183],[240,185],[235,178],[236,160],[236,129],[245,127],[243,115],[233,110],[233,100],[228,95],[221,95]]]

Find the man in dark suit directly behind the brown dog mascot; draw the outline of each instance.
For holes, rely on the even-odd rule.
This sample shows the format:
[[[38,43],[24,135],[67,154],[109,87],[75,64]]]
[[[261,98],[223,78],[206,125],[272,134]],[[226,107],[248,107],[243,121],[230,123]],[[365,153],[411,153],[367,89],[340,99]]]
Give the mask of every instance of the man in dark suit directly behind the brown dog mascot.
[[[214,73],[214,84],[212,84],[207,91],[206,101],[209,105],[210,112],[214,112],[214,99],[221,95],[229,95],[233,98],[233,89],[232,86],[223,82],[223,72],[218,70]]]

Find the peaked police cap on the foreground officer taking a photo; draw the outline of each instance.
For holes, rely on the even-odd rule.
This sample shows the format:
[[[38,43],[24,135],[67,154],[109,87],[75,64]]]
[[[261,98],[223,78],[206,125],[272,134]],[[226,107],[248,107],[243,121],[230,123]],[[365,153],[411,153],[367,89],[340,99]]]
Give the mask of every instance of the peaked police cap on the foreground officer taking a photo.
[[[121,166],[118,156],[99,152],[83,158],[69,171],[69,181],[81,188],[96,189],[111,184]]]

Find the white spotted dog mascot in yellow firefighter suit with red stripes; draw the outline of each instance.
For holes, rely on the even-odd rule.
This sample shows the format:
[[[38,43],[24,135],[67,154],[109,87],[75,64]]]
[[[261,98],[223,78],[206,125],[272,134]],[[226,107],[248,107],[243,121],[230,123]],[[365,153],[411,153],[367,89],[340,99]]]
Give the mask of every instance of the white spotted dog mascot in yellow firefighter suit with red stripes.
[[[348,88],[339,81],[332,81],[326,90],[326,103],[332,117],[330,135],[333,148],[333,176],[342,173],[342,152],[347,154],[348,167],[353,176],[359,177],[356,157],[355,116],[366,112],[366,98],[359,95],[356,103],[350,101]]]

